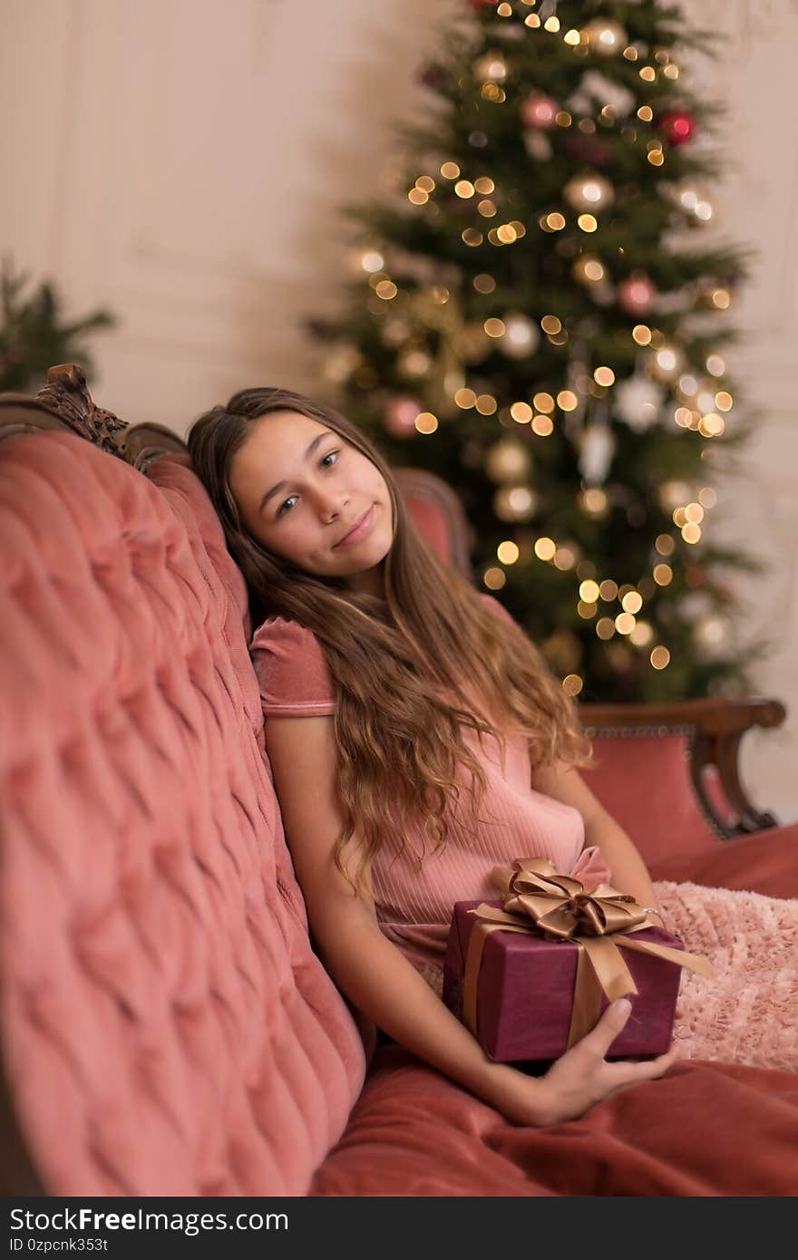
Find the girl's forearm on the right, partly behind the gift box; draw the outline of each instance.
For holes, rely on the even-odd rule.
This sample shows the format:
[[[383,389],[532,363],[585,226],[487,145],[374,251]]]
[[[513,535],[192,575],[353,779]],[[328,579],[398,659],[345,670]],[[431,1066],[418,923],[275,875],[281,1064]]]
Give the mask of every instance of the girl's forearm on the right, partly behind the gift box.
[[[656,908],[657,898],[643,858],[611,814],[596,800],[581,775],[564,761],[532,772],[532,786],[572,805],[585,820],[585,845],[596,844],[613,872],[613,885],[640,906]]]

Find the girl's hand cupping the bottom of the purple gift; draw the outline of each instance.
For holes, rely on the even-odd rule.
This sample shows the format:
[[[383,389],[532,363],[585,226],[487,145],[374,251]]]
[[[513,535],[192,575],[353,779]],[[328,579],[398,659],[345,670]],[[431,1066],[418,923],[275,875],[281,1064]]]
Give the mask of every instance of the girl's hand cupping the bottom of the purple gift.
[[[625,998],[614,1002],[606,1008],[593,1032],[566,1050],[545,1076],[537,1080],[527,1077],[526,1091],[521,1081],[516,1081],[512,1101],[508,1099],[502,1108],[507,1119],[516,1124],[535,1125],[576,1120],[618,1090],[663,1076],[678,1057],[677,1047],[642,1063],[629,1060],[606,1062],[604,1056],[624,1028],[630,1013],[632,1004]],[[523,1076],[523,1074],[517,1075]],[[532,1085],[535,1089],[529,1087]]]

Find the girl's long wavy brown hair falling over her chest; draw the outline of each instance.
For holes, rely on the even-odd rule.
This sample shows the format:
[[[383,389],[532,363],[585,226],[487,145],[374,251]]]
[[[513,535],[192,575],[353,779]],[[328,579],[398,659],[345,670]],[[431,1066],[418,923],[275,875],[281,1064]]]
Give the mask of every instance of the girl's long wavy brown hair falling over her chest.
[[[294,411],[327,426],[379,470],[393,509],[385,564],[385,601],[353,591],[272,554],[247,532],[229,486],[236,451],[258,418]],[[298,621],[316,636],[335,692],[338,796],[344,825],[338,869],[367,887],[376,853],[393,838],[421,862],[446,843],[448,810],[475,829],[485,776],[464,738],[514,730],[526,736],[531,767],[591,764],[574,701],[527,635],[490,606],[424,541],[385,459],[344,416],[287,389],[242,389],[192,426],[194,470],[222,522],[247,582],[253,625]],[[461,808],[468,788],[468,813]],[[415,830],[421,853],[408,843]],[[354,842],[356,879],[344,850]],[[352,856],[352,850],[347,857]]]

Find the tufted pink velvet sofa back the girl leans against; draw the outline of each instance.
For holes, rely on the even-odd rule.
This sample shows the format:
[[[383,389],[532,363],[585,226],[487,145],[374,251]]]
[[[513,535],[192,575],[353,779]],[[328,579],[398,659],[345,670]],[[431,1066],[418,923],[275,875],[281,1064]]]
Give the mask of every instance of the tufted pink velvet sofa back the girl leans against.
[[[53,1194],[303,1194],[364,1076],[180,459],[0,446],[0,1041]]]

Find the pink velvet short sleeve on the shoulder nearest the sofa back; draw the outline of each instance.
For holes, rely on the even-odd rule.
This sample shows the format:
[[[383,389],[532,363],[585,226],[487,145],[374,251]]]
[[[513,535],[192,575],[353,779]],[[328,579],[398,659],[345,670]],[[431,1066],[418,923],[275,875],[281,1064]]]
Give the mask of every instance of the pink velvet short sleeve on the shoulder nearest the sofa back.
[[[335,712],[333,679],[311,630],[271,617],[255,631],[250,654],[266,717],[329,717]]]

